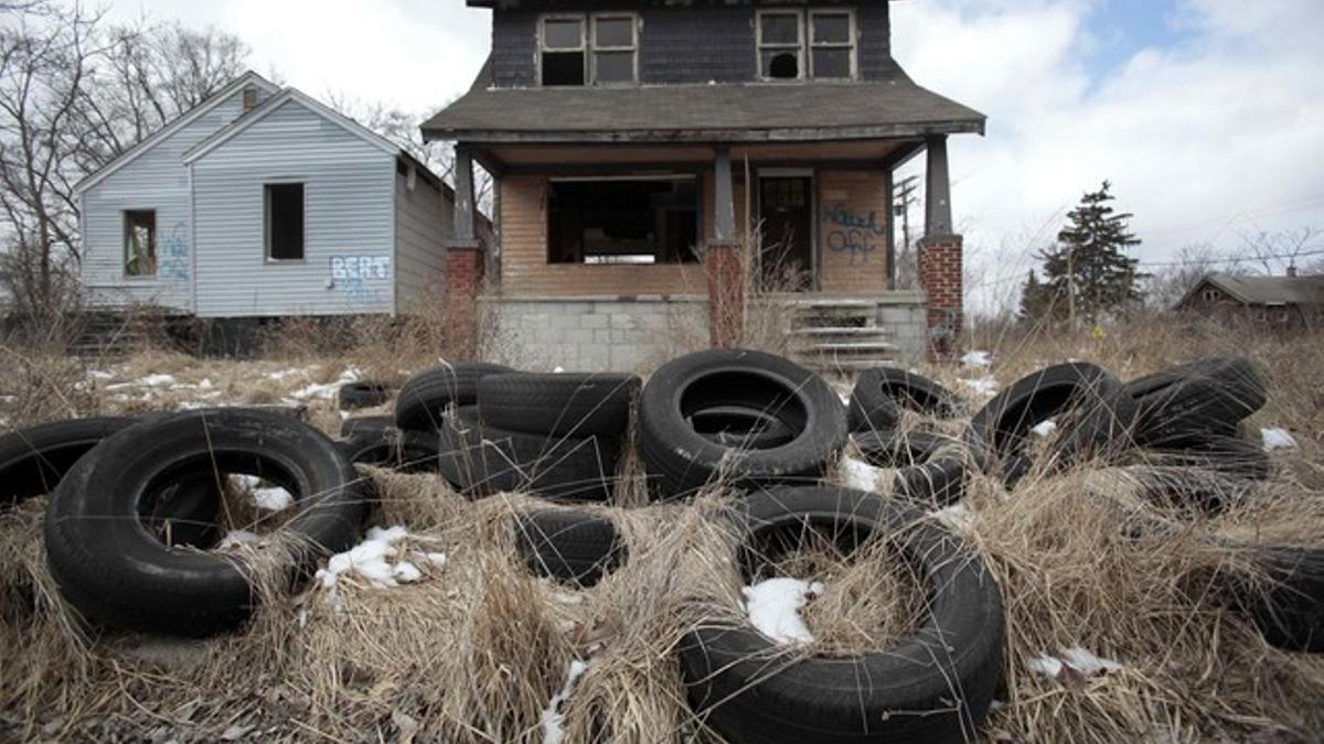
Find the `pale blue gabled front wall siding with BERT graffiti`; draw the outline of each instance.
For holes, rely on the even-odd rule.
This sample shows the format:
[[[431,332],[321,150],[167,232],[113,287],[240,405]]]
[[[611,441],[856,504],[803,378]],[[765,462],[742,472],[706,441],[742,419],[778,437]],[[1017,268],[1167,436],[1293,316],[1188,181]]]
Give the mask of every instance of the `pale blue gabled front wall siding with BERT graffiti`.
[[[391,312],[395,162],[297,101],[195,162],[197,315]],[[266,259],[262,185],[279,181],[305,184],[302,261]],[[387,271],[332,279],[334,258]]]

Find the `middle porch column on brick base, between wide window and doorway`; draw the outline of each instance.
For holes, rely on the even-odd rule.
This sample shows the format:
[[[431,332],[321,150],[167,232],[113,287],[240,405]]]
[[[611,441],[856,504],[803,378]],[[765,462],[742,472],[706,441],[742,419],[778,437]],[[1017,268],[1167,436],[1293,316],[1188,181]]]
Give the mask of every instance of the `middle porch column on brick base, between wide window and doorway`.
[[[712,240],[703,252],[708,340],[714,348],[731,348],[740,344],[744,331],[744,246],[736,237],[730,146],[715,147],[712,176]]]

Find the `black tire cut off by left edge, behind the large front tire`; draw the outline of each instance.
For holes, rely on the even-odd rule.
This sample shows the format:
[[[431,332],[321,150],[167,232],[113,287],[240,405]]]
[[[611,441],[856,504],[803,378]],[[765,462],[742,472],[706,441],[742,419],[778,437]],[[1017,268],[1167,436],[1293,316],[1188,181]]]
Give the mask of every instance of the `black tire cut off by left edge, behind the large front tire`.
[[[132,422],[124,417],[74,418],[0,437],[0,507],[54,491],[82,455]]]

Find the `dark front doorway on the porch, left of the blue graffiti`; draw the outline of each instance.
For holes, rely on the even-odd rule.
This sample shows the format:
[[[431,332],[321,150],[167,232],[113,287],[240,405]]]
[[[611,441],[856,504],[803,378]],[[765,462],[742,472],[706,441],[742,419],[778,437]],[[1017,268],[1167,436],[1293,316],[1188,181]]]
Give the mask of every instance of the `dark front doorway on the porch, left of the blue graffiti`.
[[[760,271],[769,289],[805,291],[814,285],[814,199],[810,176],[759,179],[763,221]]]

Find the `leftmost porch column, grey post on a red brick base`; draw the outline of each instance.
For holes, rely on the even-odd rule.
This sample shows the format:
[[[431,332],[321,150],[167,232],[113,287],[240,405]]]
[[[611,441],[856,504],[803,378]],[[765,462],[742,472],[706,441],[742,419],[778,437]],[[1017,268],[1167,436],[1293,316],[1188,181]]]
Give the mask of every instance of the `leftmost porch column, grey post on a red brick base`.
[[[454,336],[449,349],[457,359],[478,353],[478,291],[483,281],[483,244],[474,230],[474,154],[469,146],[455,146],[455,212],[450,242],[446,244],[446,318]]]

